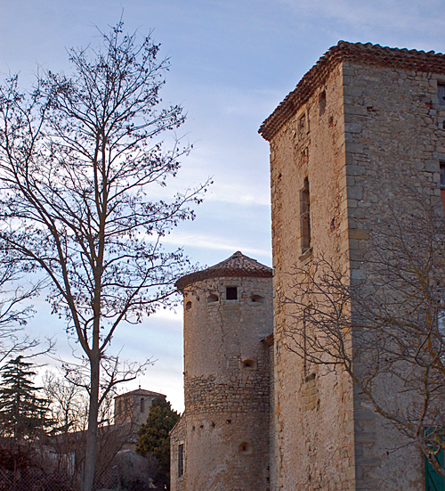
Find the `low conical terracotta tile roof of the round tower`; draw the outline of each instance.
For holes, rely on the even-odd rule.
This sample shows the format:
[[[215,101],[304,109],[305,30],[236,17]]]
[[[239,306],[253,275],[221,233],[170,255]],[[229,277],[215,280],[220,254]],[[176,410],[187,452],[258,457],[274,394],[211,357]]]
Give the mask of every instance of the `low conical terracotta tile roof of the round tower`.
[[[244,254],[235,252],[230,258],[225,259],[217,265],[207,267],[203,271],[186,274],[176,282],[176,288],[182,290],[187,285],[206,280],[208,278],[224,278],[224,277],[241,278],[244,276],[254,278],[271,278],[272,270],[268,266],[264,266],[255,259],[247,258]]]

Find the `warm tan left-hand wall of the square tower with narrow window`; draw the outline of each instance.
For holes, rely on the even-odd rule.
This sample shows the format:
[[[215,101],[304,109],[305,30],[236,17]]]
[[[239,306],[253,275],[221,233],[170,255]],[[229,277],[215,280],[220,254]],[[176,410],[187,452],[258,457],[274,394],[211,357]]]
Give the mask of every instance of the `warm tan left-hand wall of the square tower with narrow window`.
[[[272,250],[275,309],[276,489],[354,489],[353,393],[341,373],[313,367],[287,349],[293,267],[313,256],[347,267],[344,176],[344,76],[341,65],[271,141]],[[326,102],[320,110],[320,100]],[[311,249],[304,242],[301,192],[308,180]]]

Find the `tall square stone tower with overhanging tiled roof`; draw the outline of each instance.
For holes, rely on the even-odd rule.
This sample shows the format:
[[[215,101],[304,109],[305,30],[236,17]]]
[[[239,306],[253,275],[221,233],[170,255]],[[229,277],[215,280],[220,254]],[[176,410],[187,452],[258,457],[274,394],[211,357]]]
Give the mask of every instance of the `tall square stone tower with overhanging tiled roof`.
[[[279,298],[293,267],[316,257],[360,279],[369,233],[403,181],[418,178],[431,204],[440,203],[444,95],[444,55],[341,41],[260,128],[271,145],[271,489],[425,489],[422,453],[384,424],[345,373],[304,372],[286,348],[289,311]]]

